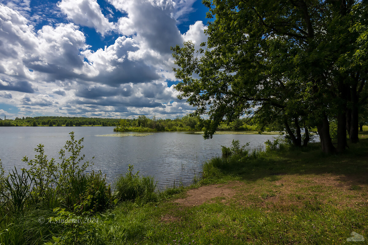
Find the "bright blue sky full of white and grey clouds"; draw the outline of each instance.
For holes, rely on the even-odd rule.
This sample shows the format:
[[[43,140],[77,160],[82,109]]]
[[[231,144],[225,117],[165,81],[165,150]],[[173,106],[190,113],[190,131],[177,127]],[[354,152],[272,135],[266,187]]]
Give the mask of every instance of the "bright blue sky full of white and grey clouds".
[[[175,118],[170,47],[206,41],[201,0],[0,0],[0,116]]]

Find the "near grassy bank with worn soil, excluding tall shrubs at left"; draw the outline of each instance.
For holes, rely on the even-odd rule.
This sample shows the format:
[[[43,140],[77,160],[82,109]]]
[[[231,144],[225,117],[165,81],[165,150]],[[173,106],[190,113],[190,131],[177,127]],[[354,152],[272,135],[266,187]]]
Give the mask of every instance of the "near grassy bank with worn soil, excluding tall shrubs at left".
[[[118,182],[116,204],[90,213],[98,220],[84,224],[74,244],[367,244],[368,131],[360,136],[339,155],[322,154],[319,144],[240,148],[204,163],[203,178],[192,186],[160,193],[130,168]],[[17,223],[18,237],[28,237],[19,244],[73,244],[63,239],[77,228],[40,224],[41,215],[55,212],[34,210]],[[366,241],[347,242],[352,231]]]

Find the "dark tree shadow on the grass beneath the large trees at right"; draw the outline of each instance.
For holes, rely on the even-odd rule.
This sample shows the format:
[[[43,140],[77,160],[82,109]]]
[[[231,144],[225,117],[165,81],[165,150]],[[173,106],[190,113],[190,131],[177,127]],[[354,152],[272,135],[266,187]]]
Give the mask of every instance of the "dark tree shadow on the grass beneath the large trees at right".
[[[365,131],[364,134],[368,134]],[[231,164],[219,169],[221,174],[240,176],[246,181],[255,181],[269,176],[287,174],[335,174],[351,184],[368,184],[368,138],[360,138],[357,144],[336,155],[326,155],[319,143],[306,148],[285,148],[268,151],[257,159]]]

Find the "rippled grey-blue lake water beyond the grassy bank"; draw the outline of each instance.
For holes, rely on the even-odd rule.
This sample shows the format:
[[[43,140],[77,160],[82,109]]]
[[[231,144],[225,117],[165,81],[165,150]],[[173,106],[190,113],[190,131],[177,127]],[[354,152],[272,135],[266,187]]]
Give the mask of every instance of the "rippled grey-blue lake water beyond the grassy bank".
[[[233,139],[239,140],[240,145],[250,142],[250,148],[255,148],[277,136],[215,134],[212,139],[204,140],[201,134],[157,132],[140,137],[101,137],[98,135],[114,134],[113,127],[0,127],[0,159],[4,169],[27,167],[21,159],[24,156],[33,159],[38,144],[45,145],[49,159],[59,160],[58,152],[70,140],[71,131],[76,139],[84,137],[85,160],[95,156],[93,169],[106,173],[110,183],[127,172],[131,164],[135,171],[139,170],[139,175],[155,176],[161,188],[172,186],[174,180],[191,184],[194,174],[201,172],[202,162],[221,155],[221,145],[229,147]]]

